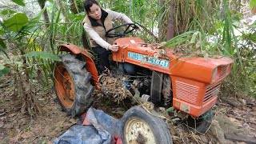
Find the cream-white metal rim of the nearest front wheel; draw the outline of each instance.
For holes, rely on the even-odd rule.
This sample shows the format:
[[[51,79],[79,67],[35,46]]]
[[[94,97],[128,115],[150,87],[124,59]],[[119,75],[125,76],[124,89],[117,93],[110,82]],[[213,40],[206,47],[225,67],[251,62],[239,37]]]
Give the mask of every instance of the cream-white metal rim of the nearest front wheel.
[[[125,127],[127,143],[156,143],[153,130],[141,119],[130,118]]]

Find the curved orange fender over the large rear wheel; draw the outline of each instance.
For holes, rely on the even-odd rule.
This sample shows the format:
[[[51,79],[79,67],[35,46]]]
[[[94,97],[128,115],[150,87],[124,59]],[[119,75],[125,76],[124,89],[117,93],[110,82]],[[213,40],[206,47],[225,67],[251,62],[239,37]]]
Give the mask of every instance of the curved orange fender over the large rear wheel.
[[[90,54],[86,50],[83,50],[82,48],[71,44],[62,44],[58,48],[60,51],[70,52],[70,54],[74,55],[82,54],[82,56],[86,60],[86,70],[88,70],[90,74],[92,74],[95,88],[100,90],[100,87],[98,85],[98,71],[96,69],[94,60],[90,57]]]

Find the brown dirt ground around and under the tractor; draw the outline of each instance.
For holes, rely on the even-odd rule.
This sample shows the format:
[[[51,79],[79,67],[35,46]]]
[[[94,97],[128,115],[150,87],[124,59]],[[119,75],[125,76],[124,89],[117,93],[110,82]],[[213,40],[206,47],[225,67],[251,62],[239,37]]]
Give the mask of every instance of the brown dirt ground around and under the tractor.
[[[46,88],[35,86],[42,114],[38,114],[37,118],[31,118],[20,112],[21,98],[14,94],[13,76],[7,74],[0,78],[0,143],[52,143],[55,138],[78,122],[79,118],[70,118],[62,111],[54,90],[50,89],[51,86],[52,83]],[[103,110],[115,118],[122,118],[122,114],[130,108],[129,101],[118,104],[113,99],[99,97],[98,94],[94,94],[94,97],[94,108]],[[179,126],[170,124],[174,143],[256,143],[255,100],[228,100],[237,102],[238,106],[230,106],[218,99],[214,106],[214,121],[206,134],[190,134]]]

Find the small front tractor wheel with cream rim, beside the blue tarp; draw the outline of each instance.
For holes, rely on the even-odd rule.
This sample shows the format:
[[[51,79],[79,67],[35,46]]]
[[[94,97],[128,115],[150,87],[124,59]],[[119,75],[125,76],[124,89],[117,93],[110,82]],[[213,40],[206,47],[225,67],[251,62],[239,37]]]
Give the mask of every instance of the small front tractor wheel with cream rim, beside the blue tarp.
[[[154,113],[154,111],[152,112]],[[128,143],[173,143],[166,123],[146,112],[140,106],[127,110],[122,117],[122,142]]]

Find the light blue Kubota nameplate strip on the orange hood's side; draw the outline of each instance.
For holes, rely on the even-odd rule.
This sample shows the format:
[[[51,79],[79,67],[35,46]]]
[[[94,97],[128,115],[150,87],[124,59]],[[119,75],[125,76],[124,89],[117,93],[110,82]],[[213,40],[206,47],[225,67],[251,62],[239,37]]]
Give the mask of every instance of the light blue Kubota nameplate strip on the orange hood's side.
[[[167,61],[165,59],[153,58],[150,56],[146,56],[144,54],[133,53],[130,51],[128,52],[128,58],[135,59],[141,62],[150,63],[156,66],[162,66],[164,68],[169,68],[170,63],[170,61]]]

